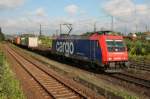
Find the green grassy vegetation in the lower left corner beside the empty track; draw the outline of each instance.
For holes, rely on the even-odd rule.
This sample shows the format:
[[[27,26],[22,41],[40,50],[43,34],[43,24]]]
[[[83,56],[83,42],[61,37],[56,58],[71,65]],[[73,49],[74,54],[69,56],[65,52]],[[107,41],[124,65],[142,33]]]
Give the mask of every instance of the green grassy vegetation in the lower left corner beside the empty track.
[[[0,45],[1,47],[1,45]],[[19,81],[14,77],[0,49],[0,99],[25,99]]]

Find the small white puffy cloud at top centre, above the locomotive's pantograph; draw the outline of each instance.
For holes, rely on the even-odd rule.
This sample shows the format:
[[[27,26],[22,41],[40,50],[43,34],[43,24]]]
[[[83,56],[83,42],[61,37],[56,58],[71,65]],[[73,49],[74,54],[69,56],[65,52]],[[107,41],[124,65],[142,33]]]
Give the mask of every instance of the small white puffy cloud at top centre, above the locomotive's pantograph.
[[[75,15],[78,13],[79,7],[77,5],[68,5],[67,7],[65,7],[65,11],[69,14],[69,15]]]

